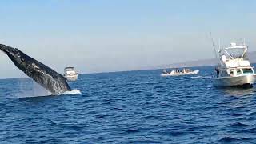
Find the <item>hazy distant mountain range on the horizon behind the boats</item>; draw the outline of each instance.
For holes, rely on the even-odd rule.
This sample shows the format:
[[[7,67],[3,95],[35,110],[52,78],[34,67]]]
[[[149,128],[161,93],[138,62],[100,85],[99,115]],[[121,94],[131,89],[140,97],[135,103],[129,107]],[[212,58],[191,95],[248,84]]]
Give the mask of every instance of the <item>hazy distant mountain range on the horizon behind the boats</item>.
[[[250,59],[250,63],[256,63],[256,51],[249,52],[248,58]],[[201,59],[198,61],[188,61],[188,62],[178,62],[171,63],[169,65],[156,66],[154,69],[163,69],[163,68],[179,68],[179,67],[194,67],[194,66],[215,66],[218,62],[216,58],[209,59]]]

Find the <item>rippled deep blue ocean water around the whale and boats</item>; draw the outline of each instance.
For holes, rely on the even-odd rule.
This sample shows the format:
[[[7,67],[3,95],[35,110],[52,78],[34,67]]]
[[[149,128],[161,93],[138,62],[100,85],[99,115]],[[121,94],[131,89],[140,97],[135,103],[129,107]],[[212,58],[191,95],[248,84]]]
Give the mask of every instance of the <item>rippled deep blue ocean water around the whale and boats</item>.
[[[82,94],[46,95],[29,78],[0,80],[1,143],[254,143],[256,86],[213,86],[214,67],[82,74]]]

